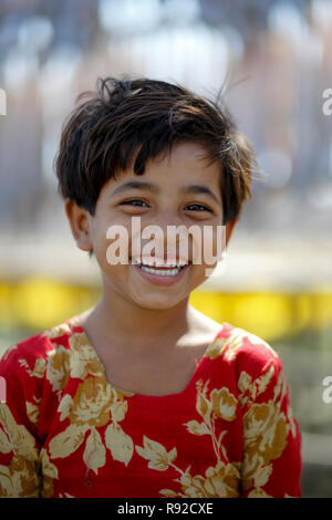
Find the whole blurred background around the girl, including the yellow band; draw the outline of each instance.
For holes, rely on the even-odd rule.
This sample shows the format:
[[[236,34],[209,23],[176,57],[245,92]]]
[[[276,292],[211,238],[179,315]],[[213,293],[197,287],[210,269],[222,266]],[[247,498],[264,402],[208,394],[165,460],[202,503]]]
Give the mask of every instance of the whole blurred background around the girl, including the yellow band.
[[[331,49],[330,0],[1,0],[0,355],[101,295],[53,169],[77,94],[122,74],[212,98],[224,85],[264,175],[225,272],[191,303],[279,353],[302,431],[303,495],[332,497],[332,403],[322,398],[332,376]]]

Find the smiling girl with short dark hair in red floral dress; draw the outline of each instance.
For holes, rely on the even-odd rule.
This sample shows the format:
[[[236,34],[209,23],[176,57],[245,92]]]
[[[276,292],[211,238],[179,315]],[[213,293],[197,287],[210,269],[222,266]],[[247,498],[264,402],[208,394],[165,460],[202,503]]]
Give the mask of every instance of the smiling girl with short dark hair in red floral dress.
[[[178,85],[105,79],[74,110],[56,175],[103,293],[4,353],[0,496],[301,497],[278,354],[188,303],[209,264],[195,261],[197,235],[168,254],[172,226],[212,229],[212,245],[225,226],[228,242],[252,164],[226,110]],[[157,252],[141,232],[137,252],[134,218],[158,229]],[[122,262],[114,229],[127,233]]]

